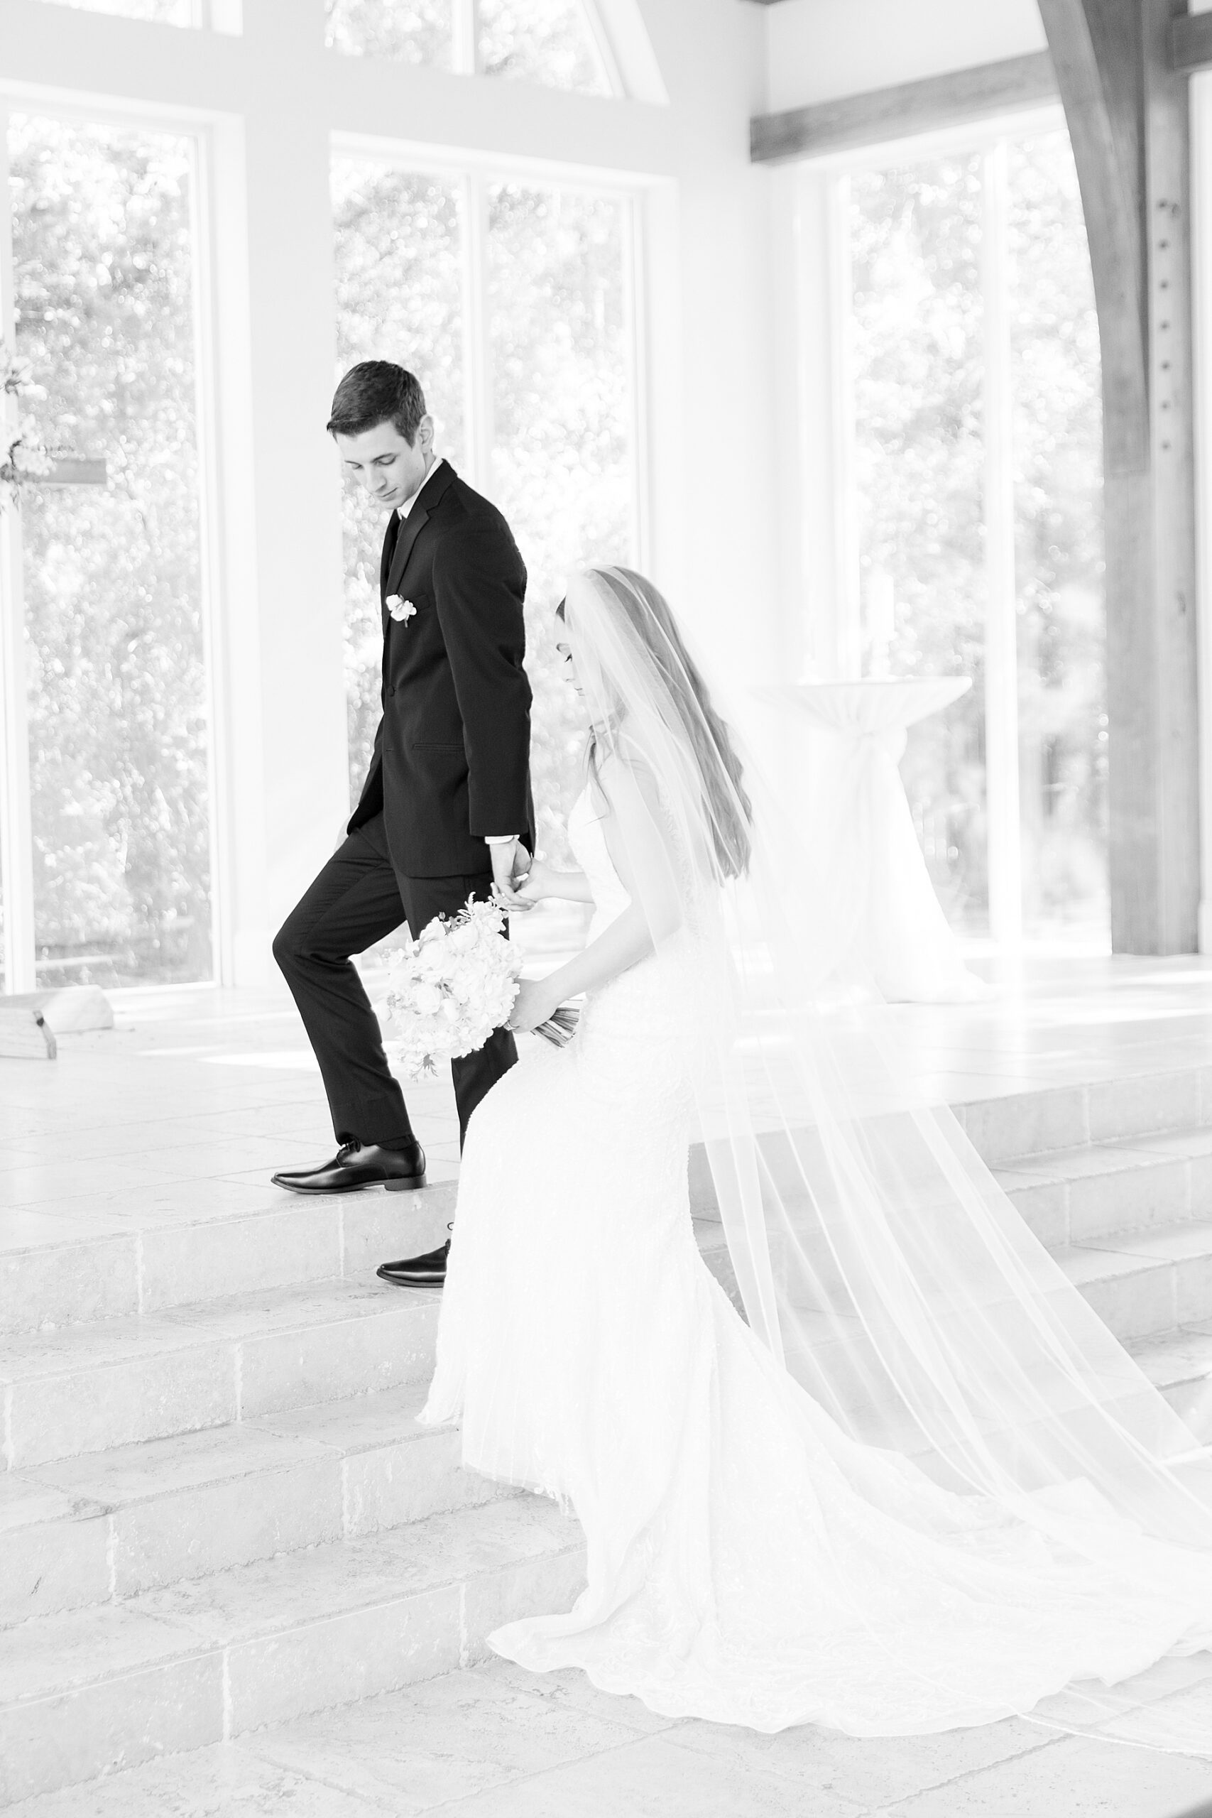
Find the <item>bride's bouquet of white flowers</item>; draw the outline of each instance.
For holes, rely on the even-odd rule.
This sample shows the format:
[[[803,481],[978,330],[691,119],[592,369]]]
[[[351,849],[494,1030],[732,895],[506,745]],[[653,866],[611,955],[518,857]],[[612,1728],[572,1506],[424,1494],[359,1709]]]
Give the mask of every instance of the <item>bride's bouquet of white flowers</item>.
[[[442,1060],[474,1054],[507,1022],[522,954],[505,938],[505,911],[469,896],[452,920],[434,916],[416,940],[405,936],[387,969],[387,1009],[400,1031],[387,1053],[420,1080]],[[560,1009],[536,1033],[563,1044],[574,1025],[574,1013]]]

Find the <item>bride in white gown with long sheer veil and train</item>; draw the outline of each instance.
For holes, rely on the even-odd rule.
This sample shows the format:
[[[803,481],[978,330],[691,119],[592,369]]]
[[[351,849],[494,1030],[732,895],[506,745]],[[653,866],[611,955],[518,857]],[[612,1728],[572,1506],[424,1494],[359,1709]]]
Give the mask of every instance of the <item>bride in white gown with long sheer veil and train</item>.
[[[661,594],[560,611],[581,869],[518,894],[596,913],[512,1027],[585,1011],[471,1120],[422,1418],[576,1513],[587,1587],[491,1645],[760,1731],[1208,1747],[1157,1702],[1212,1647],[1207,1454],[885,1053]]]

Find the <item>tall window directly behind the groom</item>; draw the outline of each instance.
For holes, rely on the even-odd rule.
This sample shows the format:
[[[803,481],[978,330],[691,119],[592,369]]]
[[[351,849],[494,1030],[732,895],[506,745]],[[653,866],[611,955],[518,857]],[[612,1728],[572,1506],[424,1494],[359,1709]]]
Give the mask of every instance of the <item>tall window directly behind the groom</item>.
[[[576,562],[634,562],[631,202],[558,185],[334,160],[338,336],[411,367],[438,447],[509,518],[529,571],[532,774],[560,840],[580,744],[554,651]],[[382,513],[345,507],[351,791],[380,716]]]

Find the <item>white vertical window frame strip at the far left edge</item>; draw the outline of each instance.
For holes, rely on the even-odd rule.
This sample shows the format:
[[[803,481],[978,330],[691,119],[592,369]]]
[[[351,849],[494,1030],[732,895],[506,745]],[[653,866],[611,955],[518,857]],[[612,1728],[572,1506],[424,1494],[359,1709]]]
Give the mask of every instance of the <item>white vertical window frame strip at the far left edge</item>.
[[[13,191],[9,185],[9,118],[0,107],[0,336],[16,347],[13,278]],[[7,405],[7,409],[5,409]],[[0,411],[15,422],[15,398]],[[5,442],[7,445],[7,442]],[[0,511],[0,873],[4,878],[4,989],[33,991],[35,871],[29,805],[29,707],[25,698],[25,587],[22,525],[16,507]]]

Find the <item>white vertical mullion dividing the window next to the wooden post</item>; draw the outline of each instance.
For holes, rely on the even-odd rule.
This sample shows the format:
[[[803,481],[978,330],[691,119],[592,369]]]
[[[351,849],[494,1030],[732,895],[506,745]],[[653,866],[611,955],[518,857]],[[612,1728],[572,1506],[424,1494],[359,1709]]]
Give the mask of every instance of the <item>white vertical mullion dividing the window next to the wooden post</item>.
[[[998,945],[1014,947],[1023,938],[1023,842],[1018,774],[1014,396],[1010,384],[1005,140],[983,155],[981,202],[988,933]]]

